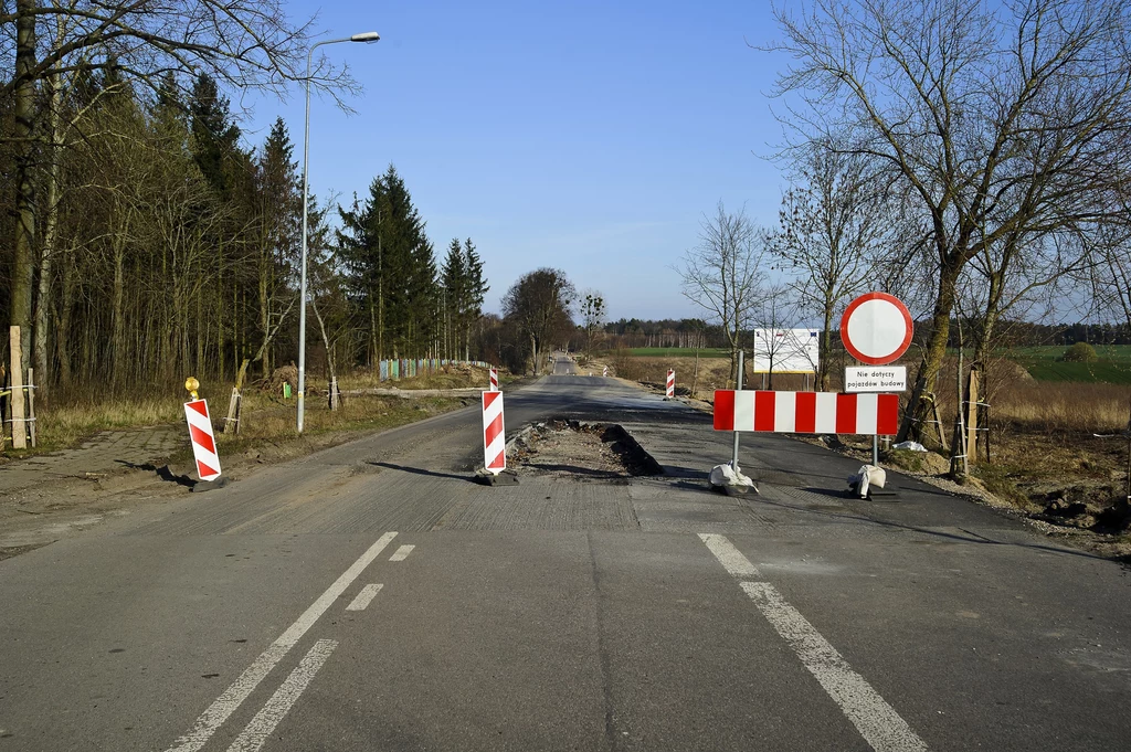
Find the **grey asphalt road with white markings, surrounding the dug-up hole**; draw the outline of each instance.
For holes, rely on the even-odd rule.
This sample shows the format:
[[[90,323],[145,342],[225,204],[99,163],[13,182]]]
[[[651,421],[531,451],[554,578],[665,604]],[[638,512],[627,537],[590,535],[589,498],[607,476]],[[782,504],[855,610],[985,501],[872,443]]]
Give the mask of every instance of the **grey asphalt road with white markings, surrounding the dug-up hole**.
[[[0,751],[1121,750],[1131,582],[910,481],[613,380],[507,426],[628,427],[665,475],[468,481],[475,408],[0,562]]]

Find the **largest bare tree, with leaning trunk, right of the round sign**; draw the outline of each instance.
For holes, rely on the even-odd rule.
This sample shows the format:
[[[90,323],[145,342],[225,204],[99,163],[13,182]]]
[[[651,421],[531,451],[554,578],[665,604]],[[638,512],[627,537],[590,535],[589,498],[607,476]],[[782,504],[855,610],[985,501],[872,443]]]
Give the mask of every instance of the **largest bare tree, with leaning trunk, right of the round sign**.
[[[938,278],[916,388],[930,391],[968,261],[1108,216],[1131,157],[1131,0],[814,0],[775,15],[795,132],[847,135],[841,150],[883,165],[929,222]]]

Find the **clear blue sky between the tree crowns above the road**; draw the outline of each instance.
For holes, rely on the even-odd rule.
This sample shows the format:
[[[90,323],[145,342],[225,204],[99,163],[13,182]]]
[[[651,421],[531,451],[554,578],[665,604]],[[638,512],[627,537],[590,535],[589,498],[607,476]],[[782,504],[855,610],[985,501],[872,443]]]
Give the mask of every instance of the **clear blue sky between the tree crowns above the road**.
[[[442,253],[470,236],[491,285],[563,269],[611,319],[700,316],[671,267],[722,199],[776,221],[783,179],[771,89],[780,61],[767,2],[309,2],[321,47],[364,94],[346,115],[311,105],[310,179],[348,200],[394,163]],[[302,92],[252,104],[260,142],[278,115],[301,157]]]

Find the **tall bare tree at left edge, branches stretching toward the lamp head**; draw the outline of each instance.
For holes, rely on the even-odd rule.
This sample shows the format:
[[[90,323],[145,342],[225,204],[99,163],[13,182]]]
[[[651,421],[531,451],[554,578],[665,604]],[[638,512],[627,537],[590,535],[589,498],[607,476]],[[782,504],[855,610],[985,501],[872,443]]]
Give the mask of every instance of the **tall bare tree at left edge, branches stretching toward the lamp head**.
[[[167,74],[207,72],[231,87],[285,95],[305,78],[313,19],[293,24],[284,0],[14,0],[0,5],[0,98],[11,98],[16,206],[10,291],[11,323],[21,327],[32,353],[35,232],[44,214],[36,172],[53,155],[61,129],[50,102],[63,78],[114,71],[126,81],[158,90]],[[312,85],[337,96],[356,85],[323,64]],[[46,145],[49,148],[37,148]],[[49,157],[50,158],[50,157]],[[53,183],[49,183],[53,184]],[[50,197],[49,197],[50,198]],[[50,256],[46,257],[50,259]],[[45,347],[45,340],[40,339]]]

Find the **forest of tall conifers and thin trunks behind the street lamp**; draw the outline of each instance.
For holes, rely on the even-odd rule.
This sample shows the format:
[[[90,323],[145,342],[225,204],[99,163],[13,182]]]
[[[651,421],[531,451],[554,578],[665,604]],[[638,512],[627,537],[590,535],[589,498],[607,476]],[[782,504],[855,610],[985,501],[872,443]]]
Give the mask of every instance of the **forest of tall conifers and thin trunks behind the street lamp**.
[[[51,97],[58,144],[40,145],[33,173],[41,389],[137,391],[292,361],[302,175],[286,123],[245,144],[207,74],[185,94],[170,78],[148,100],[109,68]],[[11,201],[10,180],[2,190]],[[438,260],[394,166],[349,206],[311,197],[308,221],[316,368],[470,357],[487,288],[478,252],[454,239]],[[0,254],[9,274],[11,245],[0,241]],[[6,320],[10,288],[0,284]]]

